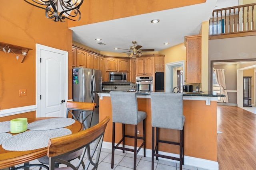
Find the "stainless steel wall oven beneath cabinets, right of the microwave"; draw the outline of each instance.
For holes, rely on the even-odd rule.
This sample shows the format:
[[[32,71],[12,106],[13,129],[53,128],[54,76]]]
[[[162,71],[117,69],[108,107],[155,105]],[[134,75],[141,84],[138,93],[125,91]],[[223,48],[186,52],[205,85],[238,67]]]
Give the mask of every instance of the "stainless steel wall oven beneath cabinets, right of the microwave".
[[[150,93],[153,92],[153,77],[136,77],[136,92]]]

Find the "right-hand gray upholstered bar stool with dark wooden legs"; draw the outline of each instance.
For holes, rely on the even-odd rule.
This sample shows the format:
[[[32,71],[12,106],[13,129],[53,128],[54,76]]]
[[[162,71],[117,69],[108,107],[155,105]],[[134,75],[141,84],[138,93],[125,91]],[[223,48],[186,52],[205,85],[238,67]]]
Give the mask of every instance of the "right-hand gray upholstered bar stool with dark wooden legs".
[[[151,93],[152,114],[152,170],[154,169],[154,156],[180,161],[180,170],[184,164],[184,122],[182,93]],[[156,127],[156,146],[155,140]],[[159,128],[176,129],[180,131],[180,142],[159,140]],[[171,135],[171,134],[166,134]],[[180,146],[179,158],[158,154],[159,143],[168,143]]]

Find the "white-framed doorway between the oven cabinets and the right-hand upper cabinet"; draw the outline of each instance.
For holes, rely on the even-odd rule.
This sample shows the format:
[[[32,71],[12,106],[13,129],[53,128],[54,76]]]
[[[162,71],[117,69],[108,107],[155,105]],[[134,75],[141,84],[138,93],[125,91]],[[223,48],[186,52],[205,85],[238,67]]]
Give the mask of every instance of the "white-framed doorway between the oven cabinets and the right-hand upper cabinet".
[[[181,84],[184,84],[185,77],[185,61],[177,61],[174,63],[166,64],[166,92],[172,92],[172,89],[177,86],[177,70],[183,70],[183,76],[181,79]]]

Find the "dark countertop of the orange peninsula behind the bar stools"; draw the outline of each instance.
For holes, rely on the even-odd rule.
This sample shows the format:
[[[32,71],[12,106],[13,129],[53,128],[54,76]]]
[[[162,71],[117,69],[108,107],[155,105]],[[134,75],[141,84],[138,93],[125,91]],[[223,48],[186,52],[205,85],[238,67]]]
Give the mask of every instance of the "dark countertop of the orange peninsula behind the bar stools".
[[[109,93],[110,91],[96,91],[95,93]],[[166,92],[170,93],[170,92]],[[141,93],[137,92],[136,94],[144,94],[144,95],[150,95],[150,93]],[[201,96],[201,97],[225,97],[224,94],[216,93],[213,91],[204,91],[204,92],[183,92],[183,96]]]

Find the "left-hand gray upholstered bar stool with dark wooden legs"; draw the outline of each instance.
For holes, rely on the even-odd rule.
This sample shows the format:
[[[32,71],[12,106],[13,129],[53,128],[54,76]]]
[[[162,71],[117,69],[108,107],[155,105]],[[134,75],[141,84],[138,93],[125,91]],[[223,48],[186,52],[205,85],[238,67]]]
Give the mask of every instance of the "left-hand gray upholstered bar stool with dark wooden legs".
[[[146,112],[138,111],[138,103],[135,92],[110,92],[111,105],[112,105],[112,121],[113,121],[113,131],[112,131],[112,160],[111,168],[114,167],[114,154],[115,149],[128,150],[134,152],[134,170],[136,170],[136,159],[137,153],[140,149],[144,148],[144,157],[146,157],[146,130],[145,130],[145,119],[147,117]],[[137,125],[143,121],[143,137],[137,136]],[[122,123],[122,139],[115,145],[115,131],[116,123]],[[125,124],[134,125],[134,136],[125,134]],[[125,138],[134,138],[134,149],[129,149],[125,147]],[[143,142],[137,149],[137,139],[142,139]],[[119,147],[122,143],[122,147]]]

